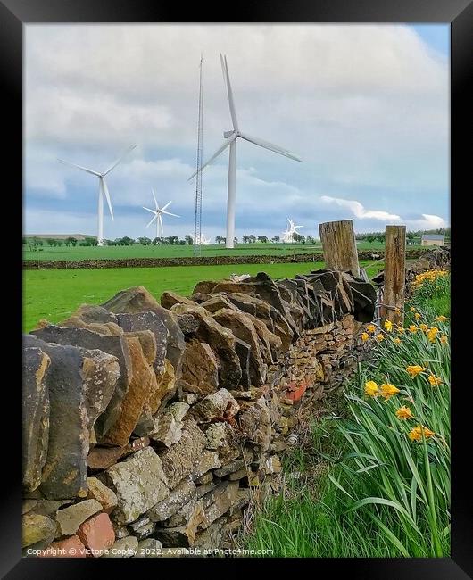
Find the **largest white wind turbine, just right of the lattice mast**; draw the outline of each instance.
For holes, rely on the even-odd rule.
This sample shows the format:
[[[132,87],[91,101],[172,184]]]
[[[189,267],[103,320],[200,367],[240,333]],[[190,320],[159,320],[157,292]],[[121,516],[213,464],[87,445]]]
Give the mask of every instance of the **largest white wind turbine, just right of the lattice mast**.
[[[212,155],[212,157],[203,164],[201,167],[201,171],[207,165],[210,165],[214,159],[216,159],[220,153],[223,153],[227,147],[230,148],[229,159],[228,159],[228,196],[227,196],[227,239],[225,245],[227,248],[234,247],[234,237],[235,237],[235,196],[236,196],[236,139],[241,137],[245,139],[245,141],[249,141],[253,143],[253,145],[259,145],[263,149],[269,149],[273,153],[279,153],[279,155],[284,155],[285,157],[289,157],[289,159],[294,159],[296,162],[301,162],[302,160],[299,159],[294,153],[290,153],[286,149],[279,147],[278,145],[273,145],[268,141],[263,141],[259,137],[252,137],[246,133],[242,133],[238,128],[238,121],[236,120],[236,111],[235,111],[235,102],[233,100],[233,93],[231,90],[230,85],[230,77],[228,75],[228,65],[227,65],[227,57],[222,56],[220,54],[220,62],[221,62],[221,69],[223,71],[223,79],[227,86],[227,93],[228,93],[228,105],[230,108],[230,115],[232,119],[233,129],[230,131],[224,131],[223,137],[225,137],[225,141],[222,145],[220,145],[219,149]],[[195,177],[197,171],[191,175],[189,178],[192,179]]]

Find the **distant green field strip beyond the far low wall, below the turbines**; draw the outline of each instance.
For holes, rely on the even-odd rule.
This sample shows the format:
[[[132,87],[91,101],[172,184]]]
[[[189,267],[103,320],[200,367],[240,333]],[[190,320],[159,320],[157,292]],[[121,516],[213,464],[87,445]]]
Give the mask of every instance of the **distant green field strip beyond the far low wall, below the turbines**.
[[[32,251],[28,245],[23,245],[24,260],[117,260],[120,258],[184,258],[193,255],[192,245],[110,245],[91,246],[39,246],[41,251]],[[361,242],[359,250],[377,252],[384,249],[384,244]],[[420,246],[410,246],[417,249]],[[228,250],[224,244],[204,245],[201,255],[205,256],[250,256],[250,255],[292,255],[294,253],[322,253],[321,244],[236,244],[233,250]]]

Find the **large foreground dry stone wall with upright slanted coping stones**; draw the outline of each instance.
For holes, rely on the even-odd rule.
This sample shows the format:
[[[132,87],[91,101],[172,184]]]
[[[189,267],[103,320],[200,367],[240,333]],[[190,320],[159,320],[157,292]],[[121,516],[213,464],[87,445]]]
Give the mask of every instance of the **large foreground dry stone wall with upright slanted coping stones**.
[[[23,340],[23,548],[154,557],[231,545],[277,489],[297,411],[353,371],[370,284],[318,270],[144,287]]]

